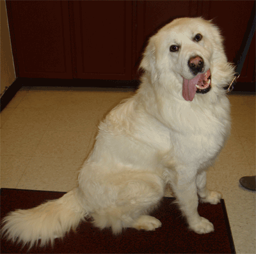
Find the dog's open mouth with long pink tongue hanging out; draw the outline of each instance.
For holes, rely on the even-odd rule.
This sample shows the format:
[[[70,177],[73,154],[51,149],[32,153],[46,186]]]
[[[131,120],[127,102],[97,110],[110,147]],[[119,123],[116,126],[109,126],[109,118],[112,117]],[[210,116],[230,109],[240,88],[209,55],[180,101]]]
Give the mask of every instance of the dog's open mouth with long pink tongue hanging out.
[[[196,75],[195,78],[183,78],[182,96],[186,101],[192,101],[196,93],[205,94],[211,90],[211,70]]]

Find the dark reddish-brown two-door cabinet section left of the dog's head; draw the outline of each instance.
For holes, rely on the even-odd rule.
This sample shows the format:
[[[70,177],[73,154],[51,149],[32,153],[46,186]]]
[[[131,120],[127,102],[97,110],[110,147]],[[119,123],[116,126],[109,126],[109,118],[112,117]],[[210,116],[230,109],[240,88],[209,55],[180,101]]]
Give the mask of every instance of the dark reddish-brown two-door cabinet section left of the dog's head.
[[[6,1],[18,77],[132,79],[132,1]]]

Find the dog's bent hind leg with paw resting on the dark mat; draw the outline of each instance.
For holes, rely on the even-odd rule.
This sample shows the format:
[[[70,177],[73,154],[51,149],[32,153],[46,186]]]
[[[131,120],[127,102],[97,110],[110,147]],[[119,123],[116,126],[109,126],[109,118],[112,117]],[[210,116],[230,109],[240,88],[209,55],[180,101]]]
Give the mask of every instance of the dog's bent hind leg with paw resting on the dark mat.
[[[131,177],[131,176],[129,176]],[[159,177],[144,172],[122,181],[115,204],[95,211],[93,224],[99,228],[111,227],[113,234],[122,232],[122,228],[155,230],[161,222],[148,216],[157,207],[164,195],[164,185]]]

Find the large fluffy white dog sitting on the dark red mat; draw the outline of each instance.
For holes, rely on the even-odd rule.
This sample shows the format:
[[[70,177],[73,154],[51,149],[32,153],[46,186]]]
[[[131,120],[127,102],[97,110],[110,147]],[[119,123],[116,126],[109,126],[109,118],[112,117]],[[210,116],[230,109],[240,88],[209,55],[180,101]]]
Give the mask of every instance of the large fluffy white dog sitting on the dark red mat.
[[[8,239],[44,246],[86,218],[113,234],[129,227],[156,230],[161,221],[149,214],[166,184],[190,230],[214,230],[197,208],[198,200],[220,202],[221,193],[207,189],[206,170],[230,133],[223,87],[232,81],[234,66],[227,62],[220,31],[202,18],[175,19],[150,38],[140,68],[136,94],[99,124],[77,188],[8,214],[2,228]]]

